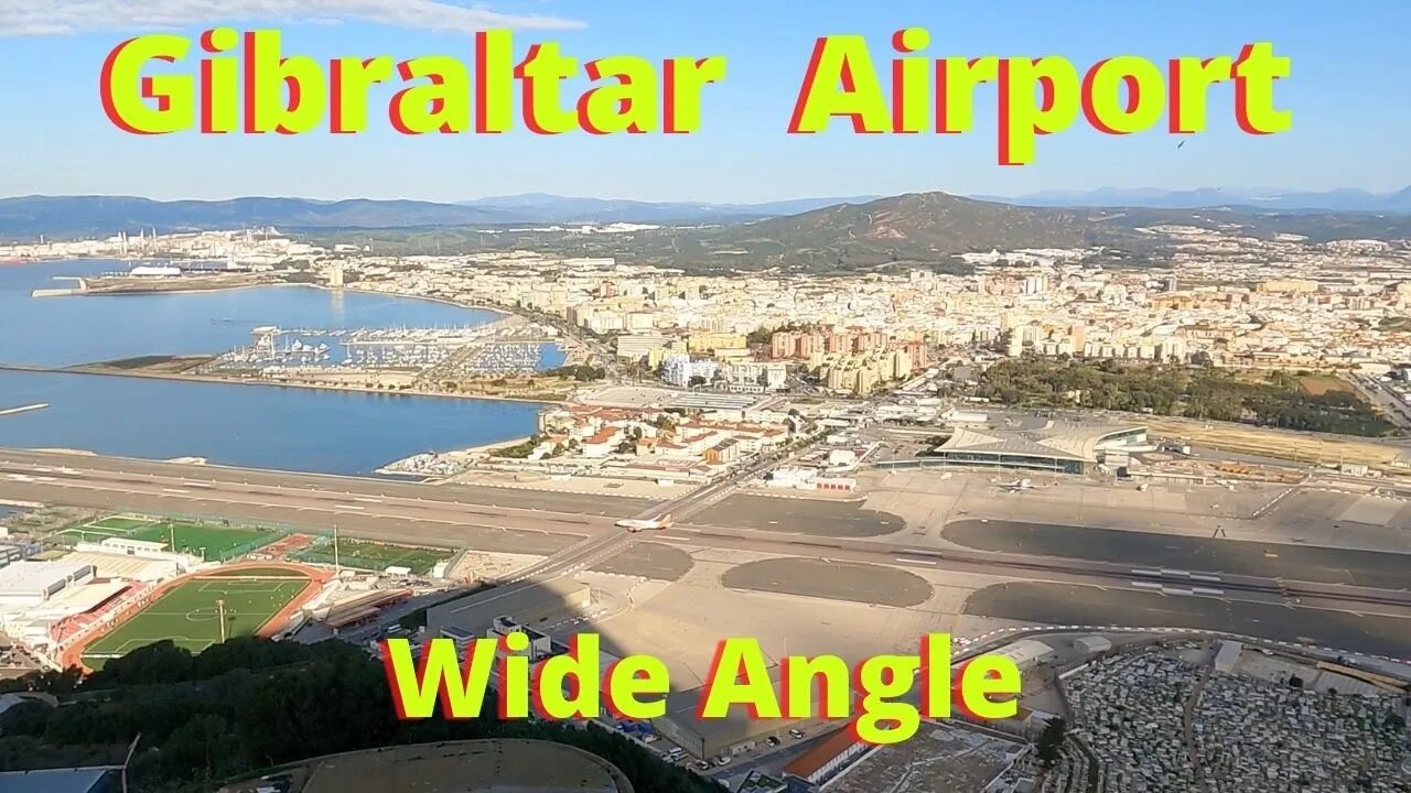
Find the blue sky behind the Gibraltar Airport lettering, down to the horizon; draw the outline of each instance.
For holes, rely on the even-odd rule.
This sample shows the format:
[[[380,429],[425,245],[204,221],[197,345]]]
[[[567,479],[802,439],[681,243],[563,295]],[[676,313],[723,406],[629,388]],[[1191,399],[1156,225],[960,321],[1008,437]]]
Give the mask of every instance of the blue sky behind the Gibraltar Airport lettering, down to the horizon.
[[[1411,185],[1411,3],[1195,0],[0,0],[0,195],[106,193],[159,199],[238,195],[460,200],[553,192],[643,200],[752,202],[947,190],[1022,195],[1099,186],[1362,188]],[[210,17],[210,8],[224,8]],[[140,17],[137,14],[141,14]],[[265,16],[260,16],[265,14]],[[270,16],[274,14],[274,16]],[[502,14],[504,17],[497,17]],[[508,17],[508,18],[507,18]],[[523,18],[531,17],[531,18]],[[374,93],[373,130],[135,137],[103,116],[99,71],[134,32],[279,27],[286,54],[470,58],[474,25],[518,25],[516,49],[559,41],[580,59],[634,54],[725,55],[694,135],[567,134],[404,137],[385,124],[392,87]],[[1235,55],[1273,41],[1292,59],[1276,102],[1291,131],[1249,137],[1233,90],[1212,89],[1211,127],[1177,150],[1163,128],[1108,137],[1075,124],[1038,141],[1026,167],[996,162],[993,89],[982,87],[965,135],[821,135],[785,128],[813,41],[864,34],[875,58],[909,25],[926,54],[1064,55],[1079,69],[1106,56]],[[195,73],[195,65],[178,66]],[[38,78],[44,78],[38,82]],[[579,87],[574,85],[573,87]],[[566,96],[576,96],[567,93]]]

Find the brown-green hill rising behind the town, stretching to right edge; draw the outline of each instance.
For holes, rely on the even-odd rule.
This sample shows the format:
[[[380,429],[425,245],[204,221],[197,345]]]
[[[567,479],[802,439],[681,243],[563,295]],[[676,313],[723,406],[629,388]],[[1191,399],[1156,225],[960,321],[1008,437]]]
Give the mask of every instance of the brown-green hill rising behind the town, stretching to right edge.
[[[955,254],[1016,248],[1103,248],[1102,264],[1158,267],[1170,261],[1151,226],[1195,226],[1271,238],[1312,241],[1411,238],[1411,216],[1256,209],[1051,207],[976,200],[948,193],[909,193],[837,205],[800,214],[711,227],[663,227],[611,240],[574,240],[591,255],[691,271],[796,270],[855,272],[902,265],[964,272]]]

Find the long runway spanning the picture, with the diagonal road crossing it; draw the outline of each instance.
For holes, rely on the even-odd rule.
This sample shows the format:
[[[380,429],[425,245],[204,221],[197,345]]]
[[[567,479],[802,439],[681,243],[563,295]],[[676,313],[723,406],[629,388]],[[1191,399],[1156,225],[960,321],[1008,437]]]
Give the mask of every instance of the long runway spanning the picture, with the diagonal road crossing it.
[[[801,536],[717,526],[691,518],[768,464],[770,461],[762,461],[676,501],[645,505],[641,500],[612,497],[0,450],[0,498],[292,522],[303,531],[336,525],[347,536],[447,545],[474,542],[485,550],[546,556],[543,562],[516,574],[507,587],[531,587],[546,579],[571,574],[622,553],[634,542],[649,536],[652,540],[713,549],[1264,604],[1295,601],[1322,608],[1356,607],[1360,612],[1388,615],[1405,615],[1411,610],[1411,593],[1405,588],[1278,580],[1219,570],[1170,570],[1130,562],[969,549],[937,550],[886,538]],[[667,532],[628,533],[615,526],[619,518],[665,512],[672,512],[679,521]]]

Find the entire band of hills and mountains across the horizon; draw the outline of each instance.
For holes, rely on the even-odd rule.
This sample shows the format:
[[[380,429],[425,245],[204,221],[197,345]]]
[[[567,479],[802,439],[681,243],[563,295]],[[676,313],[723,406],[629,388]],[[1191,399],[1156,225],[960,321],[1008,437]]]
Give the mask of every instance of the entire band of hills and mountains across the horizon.
[[[1158,224],[1239,230],[1266,238],[1280,233],[1300,234],[1314,241],[1411,238],[1411,213],[1273,210],[1247,202],[1216,207],[1132,206],[1133,199],[1180,203],[1174,193],[1163,196],[1110,192],[1108,198],[1115,207],[1092,206],[1089,202],[1102,198],[1094,193],[1067,199],[1050,193],[1044,199],[1085,199],[1084,206],[1020,205],[941,192],[762,205],[648,203],[538,193],[460,205],[368,199],[155,202],[123,196],[28,196],[0,199],[0,240],[32,240],[38,234],[110,236],[138,229],[171,233],[274,226],[323,244],[356,240],[394,255],[511,246],[564,255],[614,255],[706,272],[783,268],[828,274],[897,262],[962,271],[955,254],[992,248],[1102,247],[1110,264],[1161,264],[1167,258],[1161,254],[1160,237],[1137,231]],[[645,227],[614,234],[563,230],[579,223],[610,222],[635,222]],[[491,229],[497,233],[487,234]]]

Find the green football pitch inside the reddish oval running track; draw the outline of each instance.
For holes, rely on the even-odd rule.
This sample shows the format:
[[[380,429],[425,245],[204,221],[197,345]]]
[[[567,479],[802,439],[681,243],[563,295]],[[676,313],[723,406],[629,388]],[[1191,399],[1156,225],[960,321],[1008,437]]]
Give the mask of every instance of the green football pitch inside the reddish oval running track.
[[[233,571],[234,573],[234,571]],[[248,570],[247,576],[195,579],[171,588],[127,622],[83,649],[83,663],[103,662],[164,639],[193,653],[220,642],[217,600],[224,601],[226,638],[248,636],[303,591],[309,580],[289,570]],[[251,577],[250,573],[278,577]]]

